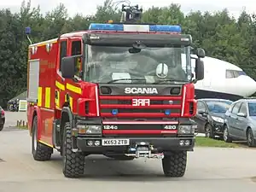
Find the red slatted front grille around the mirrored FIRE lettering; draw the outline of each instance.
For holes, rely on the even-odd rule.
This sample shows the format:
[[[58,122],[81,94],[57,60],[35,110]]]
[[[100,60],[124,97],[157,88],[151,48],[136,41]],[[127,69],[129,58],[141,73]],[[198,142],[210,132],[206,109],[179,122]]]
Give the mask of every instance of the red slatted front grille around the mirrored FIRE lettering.
[[[143,96],[145,99],[150,99],[150,105],[139,107],[132,106],[133,98],[140,98],[140,96],[100,96],[102,118],[168,118],[180,116],[182,96]],[[118,113],[112,114],[113,109]],[[170,114],[166,114],[166,109]]]

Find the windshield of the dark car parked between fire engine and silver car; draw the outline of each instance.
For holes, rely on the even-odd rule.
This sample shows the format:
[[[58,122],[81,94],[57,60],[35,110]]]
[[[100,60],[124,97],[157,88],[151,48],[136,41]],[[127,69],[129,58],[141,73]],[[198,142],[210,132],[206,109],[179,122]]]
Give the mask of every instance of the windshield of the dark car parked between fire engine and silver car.
[[[207,101],[207,107],[212,113],[225,113],[231,105],[229,101]]]

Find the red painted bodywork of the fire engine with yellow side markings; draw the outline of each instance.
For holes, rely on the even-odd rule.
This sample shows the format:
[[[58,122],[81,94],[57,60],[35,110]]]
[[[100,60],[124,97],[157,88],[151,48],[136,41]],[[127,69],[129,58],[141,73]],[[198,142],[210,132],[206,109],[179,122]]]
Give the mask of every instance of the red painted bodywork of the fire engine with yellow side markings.
[[[98,32],[98,31],[97,31]],[[184,117],[189,118],[195,115],[196,102],[195,102],[195,87],[194,84],[183,85],[182,96],[99,96],[99,90],[97,84],[92,84],[79,80],[75,83],[71,79],[62,79],[59,73],[60,67],[60,44],[63,40],[67,40],[67,55],[71,55],[71,45],[73,41],[82,41],[82,36],[85,32],[73,32],[67,33],[47,42],[38,44],[32,44],[29,47],[28,53],[28,85],[27,92],[29,92],[29,70],[30,61],[39,60],[39,82],[38,82],[38,102],[28,101],[27,106],[27,119],[28,128],[32,133],[32,119],[35,113],[38,115],[38,141],[41,143],[53,146],[53,120],[61,119],[61,108],[67,105],[66,94],[70,96],[70,107],[74,114],[79,116],[102,118],[113,117],[112,113],[101,113],[101,108],[170,108],[170,105],[151,105],[145,107],[134,107],[131,105],[111,105],[101,104],[101,100],[131,100],[132,98],[144,98],[147,97],[150,100],[179,100],[180,105],[172,105],[172,108],[179,108],[181,113],[171,113],[169,117]],[[50,44],[50,50],[47,51],[47,46]],[[34,51],[34,53],[33,53]],[[59,99],[55,99],[55,94],[59,96]],[[85,113],[85,102],[89,102],[89,113]],[[191,106],[193,113],[191,113]],[[190,112],[189,112],[190,111]],[[148,118],[160,118],[166,117],[164,113],[118,113],[115,117],[148,117]],[[121,124],[124,121],[103,120],[102,124]],[[129,124],[134,122],[129,121]],[[162,121],[147,121],[143,124],[167,124],[168,122]],[[172,124],[175,123],[172,121]],[[108,134],[173,134],[177,131],[160,131],[160,130],[104,130],[103,135]]]

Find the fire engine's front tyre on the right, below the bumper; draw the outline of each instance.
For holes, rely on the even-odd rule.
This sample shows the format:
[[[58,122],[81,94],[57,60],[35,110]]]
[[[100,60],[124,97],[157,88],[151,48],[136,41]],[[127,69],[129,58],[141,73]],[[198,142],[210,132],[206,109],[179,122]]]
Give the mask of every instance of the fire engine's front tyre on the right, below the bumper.
[[[173,151],[165,154],[162,167],[166,177],[183,177],[187,166],[187,151]]]

